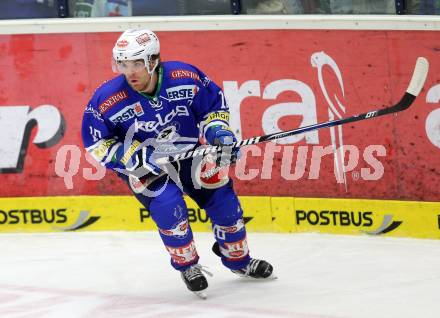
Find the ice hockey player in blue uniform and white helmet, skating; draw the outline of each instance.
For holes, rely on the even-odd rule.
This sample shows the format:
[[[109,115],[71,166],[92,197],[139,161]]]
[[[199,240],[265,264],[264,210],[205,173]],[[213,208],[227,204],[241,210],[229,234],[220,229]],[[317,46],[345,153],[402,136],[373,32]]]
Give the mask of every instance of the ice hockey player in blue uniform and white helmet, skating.
[[[119,75],[98,87],[85,108],[84,146],[132,189],[136,190],[132,180],[148,185],[147,192],[133,193],[150,212],[171,265],[188,289],[204,298],[208,282],[198,264],[183,193],[210,217],[216,239],[213,250],[224,266],[241,276],[273,278],[268,262],[249,255],[243,212],[231,180],[200,187],[194,182],[192,160],[178,162],[177,180],[168,176],[171,168],[167,175],[155,161],[161,142],[195,147],[200,140],[220,146],[236,141],[222,90],[190,64],[162,62],[159,39],[147,29],[120,35],[113,48],[113,70]],[[230,149],[230,163],[238,152]]]

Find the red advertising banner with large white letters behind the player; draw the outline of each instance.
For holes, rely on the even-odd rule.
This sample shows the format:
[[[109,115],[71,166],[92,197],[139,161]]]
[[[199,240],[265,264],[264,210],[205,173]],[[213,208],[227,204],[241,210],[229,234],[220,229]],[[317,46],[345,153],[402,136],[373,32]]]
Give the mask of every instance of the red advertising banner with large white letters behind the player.
[[[393,105],[417,57],[426,57],[427,82],[408,110],[247,146],[229,173],[245,196],[440,201],[438,32],[227,30],[158,36],[162,60],[194,64],[223,88],[239,139]],[[115,76],[111,50],[117,37],[0,35],[1,197],[130,193],[85,154],[80,131],[88,99]],[[62,210],[66,205],[52,209],[49,216],[58,221],[69,215]],[[303,211],[295,212],[301,220],[316,218],[308,203],[297,209]],[[324,226],[324,214],[316,213],[320,220],[310,226]],[[368,223],[371,215],[361,217]]]

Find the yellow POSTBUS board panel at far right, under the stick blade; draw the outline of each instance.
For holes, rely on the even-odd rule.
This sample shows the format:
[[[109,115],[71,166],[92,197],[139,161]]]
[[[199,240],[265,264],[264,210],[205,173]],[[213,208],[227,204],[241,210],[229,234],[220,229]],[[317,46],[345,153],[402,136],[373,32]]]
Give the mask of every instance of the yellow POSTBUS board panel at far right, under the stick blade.
[[[440,202],[295,198],[297,232],[440,238]]]

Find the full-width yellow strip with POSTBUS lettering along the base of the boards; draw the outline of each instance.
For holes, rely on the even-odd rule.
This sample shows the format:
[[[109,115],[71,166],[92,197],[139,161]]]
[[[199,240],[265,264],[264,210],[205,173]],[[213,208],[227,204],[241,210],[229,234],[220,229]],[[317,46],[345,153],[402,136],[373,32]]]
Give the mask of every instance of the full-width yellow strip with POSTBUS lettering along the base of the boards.
[[[440,202],[240,197],[250,232],[330,233],[440,238]],[[206,212],[186,198],[194,231],[211,230]],[[131,196],[0,199],[1,232],[155,230]]]

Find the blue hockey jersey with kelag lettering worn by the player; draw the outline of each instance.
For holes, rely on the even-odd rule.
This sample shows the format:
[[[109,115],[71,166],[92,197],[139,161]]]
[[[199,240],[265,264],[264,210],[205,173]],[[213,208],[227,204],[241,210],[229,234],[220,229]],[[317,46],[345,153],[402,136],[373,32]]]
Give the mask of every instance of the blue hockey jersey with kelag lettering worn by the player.
[[[124,169],[145,140],[165,141],[167,147],[179,144],[181,151],[188,150],[197,143],[210,114],[228,116],[223,92],[196,67],[162,62],[158,74],[153,96],[133,90],[119,75],[102,84],[85,108],[84,146],[107,168]]]

